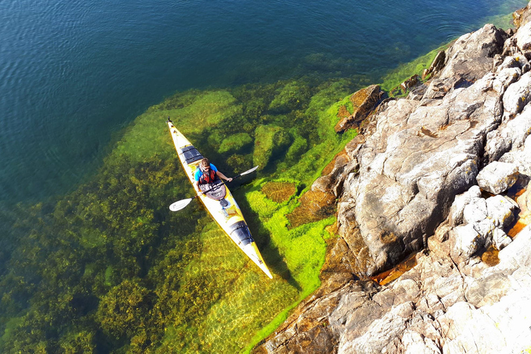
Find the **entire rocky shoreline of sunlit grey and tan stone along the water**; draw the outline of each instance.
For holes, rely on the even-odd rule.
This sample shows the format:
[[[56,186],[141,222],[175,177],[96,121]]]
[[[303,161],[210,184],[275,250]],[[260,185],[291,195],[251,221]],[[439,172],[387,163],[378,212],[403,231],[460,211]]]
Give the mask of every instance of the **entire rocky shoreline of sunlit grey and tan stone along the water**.
[[[361,133],[313,185],[338,198],[322,287],[253,353],[531,350],[530,19],[463,35],[407,98],[356,97],[336,130]]]

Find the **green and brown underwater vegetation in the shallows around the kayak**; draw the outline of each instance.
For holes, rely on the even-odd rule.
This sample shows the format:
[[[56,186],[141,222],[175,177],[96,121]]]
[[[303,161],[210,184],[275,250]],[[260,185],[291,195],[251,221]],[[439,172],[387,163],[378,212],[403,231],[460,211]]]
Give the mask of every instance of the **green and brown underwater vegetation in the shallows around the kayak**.
[[[319,287],[334,206],[313,215],[320,197],[304,192],[356,135],[333,127],[368,84],[300,77],[176,93],[124,129],[75,191],[0,209],[16,239],[0,252],[0,352],[250,351]],[[272,280],[198,203],[169,212],[193,192],[168,116],[225,175],[260,165],[230,188]]]

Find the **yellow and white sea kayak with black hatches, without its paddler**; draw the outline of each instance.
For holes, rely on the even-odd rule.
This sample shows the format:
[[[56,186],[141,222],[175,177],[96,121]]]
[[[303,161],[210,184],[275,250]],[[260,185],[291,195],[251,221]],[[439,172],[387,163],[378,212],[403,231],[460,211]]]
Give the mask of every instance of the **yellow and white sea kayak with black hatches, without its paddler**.
[[[194,174],[198,168],[203,156],[199,151],[189,142],[180,131],[176,129],[173,122],[167,121],[171,138],[174,140],[175,149],[177,150],[179,160],[185,174],[188,176],[190,183],[194,183]],[[225,191],[223,191],[225,189]],[[224,193],[223,193],[224,192]],[[224,194],[224,196],[223,196]],[[211,195],[210,198],[207,195]],[[202,194],[197,198],[201,199],[203,205],[207,208],[209,214],[214,218],[219,227],[223,229],[225,234],[230,237],[234,243],[247,254],[256,265],[272,279],[271,272],[267,265],[265,265],[262,255],[257,248],[257,243],[251,236],[249,227],[245,223],[245,219],[241,214],[240,207],[232,197],[230,190],[225,185],[218,185],[212,189],[212,193]],[[215,199],[214,199],[215,198]],[[218,200],[216,200],[218,199]],[[175,203],[174,203],[175,204]],[[172,209],[170,207],[170,209]]]

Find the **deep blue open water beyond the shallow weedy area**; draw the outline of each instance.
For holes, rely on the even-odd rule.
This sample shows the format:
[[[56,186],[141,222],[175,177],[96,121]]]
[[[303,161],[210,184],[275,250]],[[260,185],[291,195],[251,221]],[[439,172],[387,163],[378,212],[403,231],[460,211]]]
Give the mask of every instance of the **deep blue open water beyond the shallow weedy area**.
[[[525,4],[0,0],[0,201],[72,189],[175,91],[308,73],[378,80]]]

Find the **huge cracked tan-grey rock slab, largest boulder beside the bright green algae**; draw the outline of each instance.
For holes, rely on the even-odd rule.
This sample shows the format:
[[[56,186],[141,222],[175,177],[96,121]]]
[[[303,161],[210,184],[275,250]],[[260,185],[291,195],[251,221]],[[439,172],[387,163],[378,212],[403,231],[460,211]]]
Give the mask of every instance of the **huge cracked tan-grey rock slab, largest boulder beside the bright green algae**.
[[[353,156],[359,175],[344,183],[338,204],[342,235],[355,215],[374,274],[425,246],[451,201],[476,183],[483,141],[501,122],[501,102],[492,82],[478,80],[449,93],[435,106],[389,102],[377,129]],[[348,212],[347,212],[348,211]]]

